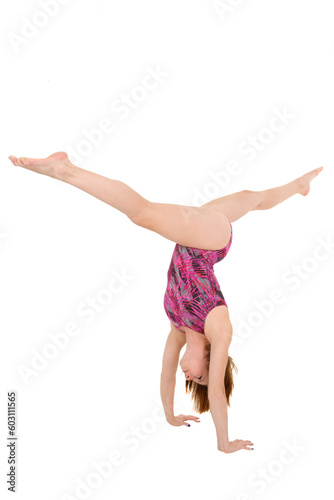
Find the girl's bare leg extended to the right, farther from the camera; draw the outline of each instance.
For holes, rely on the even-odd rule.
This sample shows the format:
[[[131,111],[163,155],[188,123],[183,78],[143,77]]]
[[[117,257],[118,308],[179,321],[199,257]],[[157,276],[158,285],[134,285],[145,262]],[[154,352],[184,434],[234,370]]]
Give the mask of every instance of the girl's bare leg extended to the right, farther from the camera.
[[[268,210],[282,201],[287,200],[294,194],[306,196],[310,191],[310,183],[323,167],[311,170],[307,174],[284,184],[264,191],[239,191],[229,194],[202,205],[225,214],[231,222],[234,222],[252,210]]]

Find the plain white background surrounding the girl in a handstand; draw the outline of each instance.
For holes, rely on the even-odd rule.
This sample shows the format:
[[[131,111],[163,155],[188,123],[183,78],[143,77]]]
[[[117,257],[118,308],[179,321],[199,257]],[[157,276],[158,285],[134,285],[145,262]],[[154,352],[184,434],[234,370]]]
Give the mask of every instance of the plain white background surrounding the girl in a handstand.
[[[1,13],[1,495],[7,391],[16,390],[18,499],[327,497],[334,251],[317,247],[334,240],[332,2],[56,4],[7,2]],[[165,76],[143,93],[147,67]],[[126,94],[136,107],[122,119],[111,105]],[[270,133],[275,109],[290,119]],[[235,222],[230,253],[215,268],[239,339],[229,437],[252,440],[254,451],[219,452],[210,413],[190,428],[163,418],[173,242],[8,160],[75,151],[105,118],[114,131],[80,166],[152,201],[198,205],[199,192],[208,200],[267,189],[324,166],[307,197]],[[251,137],[261,146],[252,159]],[[239,169],[228,178],[231,161]],[[131,279],[86,323],[78,307],[102,297],[115,270]],[[282,304],[254,314],[275,289]],[[20,367],[31,369],[33,352],[70,322],[80,333],[25,383]],[[192,413],[180,370],[175,406]],[[115,451],[122,463],[99,483],[93,464]],[[76,490],[94,478],[85,494]]]

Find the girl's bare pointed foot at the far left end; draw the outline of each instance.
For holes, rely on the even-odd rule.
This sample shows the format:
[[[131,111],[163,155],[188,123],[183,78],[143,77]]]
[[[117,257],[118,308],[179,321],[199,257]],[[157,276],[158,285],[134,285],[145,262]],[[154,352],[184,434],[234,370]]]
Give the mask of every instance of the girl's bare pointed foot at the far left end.
[[[16,167],[23,167],[38,174],[48,175],[56,179],[61,179],[62,176],[74,165],[70,162],[67,153],[58,151],[47,158],[17,158],[16,156],[8,157]]]

